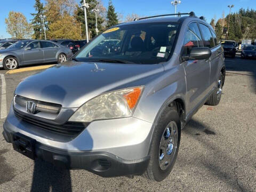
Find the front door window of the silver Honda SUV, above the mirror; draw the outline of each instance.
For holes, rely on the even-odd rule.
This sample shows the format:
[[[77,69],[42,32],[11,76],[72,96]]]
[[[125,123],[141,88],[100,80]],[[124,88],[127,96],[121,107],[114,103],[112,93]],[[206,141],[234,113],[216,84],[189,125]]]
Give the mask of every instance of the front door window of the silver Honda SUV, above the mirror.
[[[203,47],[202,37],[197,23],[190,23],[183,42],[183,55],[189,55],[192,47]]]

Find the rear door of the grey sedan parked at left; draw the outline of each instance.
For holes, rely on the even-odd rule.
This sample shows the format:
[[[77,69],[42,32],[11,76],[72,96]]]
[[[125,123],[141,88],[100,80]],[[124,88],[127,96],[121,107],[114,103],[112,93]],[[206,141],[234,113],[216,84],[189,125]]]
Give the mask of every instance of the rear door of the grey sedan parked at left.
[[[44,62],[56,61],[59,46],[49,41],[42,41],[41,46],[44,51]]]

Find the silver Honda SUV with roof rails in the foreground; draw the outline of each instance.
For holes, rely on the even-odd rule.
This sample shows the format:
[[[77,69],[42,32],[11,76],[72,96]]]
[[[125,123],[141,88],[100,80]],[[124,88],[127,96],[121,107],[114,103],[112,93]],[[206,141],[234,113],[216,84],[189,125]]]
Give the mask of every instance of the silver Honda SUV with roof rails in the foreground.
[[[119,51],[99,49],[106,39],[119,39]],[[3,135],[56,166],[162,181],[181,129],[204,103],[218,105],[224,81],[220,42],[194,12],[121,23],[20,82]]]

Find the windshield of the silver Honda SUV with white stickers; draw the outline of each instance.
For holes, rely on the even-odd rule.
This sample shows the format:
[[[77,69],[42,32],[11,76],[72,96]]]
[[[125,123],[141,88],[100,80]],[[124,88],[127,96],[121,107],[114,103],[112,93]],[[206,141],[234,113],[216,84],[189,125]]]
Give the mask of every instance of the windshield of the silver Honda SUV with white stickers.
[[[125,25],[103,32],[75,60],[154,64],[168,60],[178,23]]]

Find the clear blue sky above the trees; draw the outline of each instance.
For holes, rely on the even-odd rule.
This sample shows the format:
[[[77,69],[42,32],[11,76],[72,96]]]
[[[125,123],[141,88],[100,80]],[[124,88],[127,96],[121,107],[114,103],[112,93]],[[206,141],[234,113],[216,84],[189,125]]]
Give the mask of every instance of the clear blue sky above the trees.
[[[78,1],[78,0],[77,0]],[[124,18],[129,13],[137,13],[141,16],[150,16],[158,14],[174,13],[174,7],[171,5],[172,0],[112,0],[116,12],[122,13]],[[30,13],[34,13],[35,0],[0,0],[0,38],[10,38],[6,33],[5,18],[10,11],[23,13],[28,21],[32,19]],[[44,2],[44,0],[42,0]],[[108,0],[102,0],[107,7]],[[177,12],[187,13],[194,11],[198,17],[202,15],[210,22],[214,16],[221,18],[222,12],[225,15],[229,13],[228,5],[234,4],[235,7],[231,12],[237,12],[241,7],[244,9],[256,10],[256,0],[181,0],[177,6]]]

